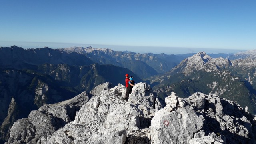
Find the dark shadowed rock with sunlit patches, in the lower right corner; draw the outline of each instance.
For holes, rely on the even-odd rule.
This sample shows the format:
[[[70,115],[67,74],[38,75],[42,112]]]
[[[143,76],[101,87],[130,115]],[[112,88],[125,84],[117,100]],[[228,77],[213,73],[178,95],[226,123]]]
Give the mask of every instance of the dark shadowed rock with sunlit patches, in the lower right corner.
[[[215,136],[225,136],[227,144],[254,144],[253,116],[237,104],[224,99],[220,99],[220,102],[223,106],[222,114],[216,115],[216,106],[208,102],[204,109],[206,112],[196,112],[204,116],[205,135],[214,133]]]

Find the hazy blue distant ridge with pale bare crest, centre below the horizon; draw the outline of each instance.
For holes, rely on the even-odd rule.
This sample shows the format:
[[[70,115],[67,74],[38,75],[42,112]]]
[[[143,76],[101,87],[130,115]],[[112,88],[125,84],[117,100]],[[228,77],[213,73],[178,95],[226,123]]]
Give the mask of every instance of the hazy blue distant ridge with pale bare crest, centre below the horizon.
[[[77,52],[84,54],[94,62],[99,64],[113,64],[128,68],[140,78],[147,78],[159,73],[168,72],[184,57],[167,54],[136,54],[134,52],[119,52],[110,49],[92,47],[63,48],[67,53]]]

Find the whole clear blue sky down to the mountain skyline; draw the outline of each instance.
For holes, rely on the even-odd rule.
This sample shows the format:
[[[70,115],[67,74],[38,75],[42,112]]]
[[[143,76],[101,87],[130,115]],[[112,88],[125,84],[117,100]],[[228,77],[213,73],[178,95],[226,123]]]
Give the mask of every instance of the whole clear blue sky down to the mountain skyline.
[[[0,46],[167,54],[256,49],[256,0],[0,0],[0,6]]]

